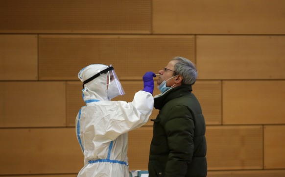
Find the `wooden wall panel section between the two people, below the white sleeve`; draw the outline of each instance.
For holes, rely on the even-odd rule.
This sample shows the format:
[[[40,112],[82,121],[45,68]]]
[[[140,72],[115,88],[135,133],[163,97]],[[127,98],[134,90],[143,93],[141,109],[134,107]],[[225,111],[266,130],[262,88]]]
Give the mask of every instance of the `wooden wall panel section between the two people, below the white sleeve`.
[[[152,127],[143,126],[128,133],[129,170],[147,170]]]

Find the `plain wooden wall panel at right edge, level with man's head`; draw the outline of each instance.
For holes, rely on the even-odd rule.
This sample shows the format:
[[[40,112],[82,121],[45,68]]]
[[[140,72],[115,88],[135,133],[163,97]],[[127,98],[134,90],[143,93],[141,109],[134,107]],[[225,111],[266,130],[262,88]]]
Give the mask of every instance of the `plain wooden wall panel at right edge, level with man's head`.
[[[200,79],[284,79],[285,36],[198,35]]]

